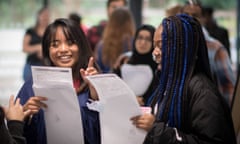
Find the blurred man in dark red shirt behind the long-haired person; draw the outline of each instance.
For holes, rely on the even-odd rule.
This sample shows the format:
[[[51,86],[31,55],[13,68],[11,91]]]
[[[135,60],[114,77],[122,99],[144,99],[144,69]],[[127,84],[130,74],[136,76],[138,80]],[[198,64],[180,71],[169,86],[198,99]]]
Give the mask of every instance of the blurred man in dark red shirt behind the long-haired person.
[[[127,0],[107,0],[107,16],[110,18],[112,12],[118,7],[127,6]],[[88,41],[90,47],[94,50],[97,43],[102,38],[103,30],[107,24],[108,20],[102,20],[98,25],[92,26],[88,30]]]

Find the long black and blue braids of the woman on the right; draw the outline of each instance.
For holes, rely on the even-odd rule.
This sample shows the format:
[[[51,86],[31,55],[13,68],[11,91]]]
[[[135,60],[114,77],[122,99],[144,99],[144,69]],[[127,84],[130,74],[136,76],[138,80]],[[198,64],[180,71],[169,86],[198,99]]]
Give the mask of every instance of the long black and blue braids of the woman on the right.
[[[157,118],[181,128],[186,121],[185,103],[192,76],[203,73],[212,80],[207,47],[202,27],[193,17],[170,16],[163,19],[162,27],[162,72],[153,94],[159,106]]]

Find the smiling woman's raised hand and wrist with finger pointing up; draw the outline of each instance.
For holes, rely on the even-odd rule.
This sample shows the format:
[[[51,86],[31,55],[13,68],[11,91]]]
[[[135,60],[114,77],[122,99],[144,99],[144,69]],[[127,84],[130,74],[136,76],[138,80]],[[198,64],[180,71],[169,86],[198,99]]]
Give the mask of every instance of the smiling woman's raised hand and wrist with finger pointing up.
[[[90,57],[89,62],[88,62],[88,67],[85,70],[80,69],[80,74],[81,74],[84,82],[89,86],[91,98],[93,100],[98,100],[98,95],[97,95],[97,92],[96,92],[95,88],[86,79],[86,76],[91,76],[91,75],[98,74],[97,69],[94,67],[93,57]]]

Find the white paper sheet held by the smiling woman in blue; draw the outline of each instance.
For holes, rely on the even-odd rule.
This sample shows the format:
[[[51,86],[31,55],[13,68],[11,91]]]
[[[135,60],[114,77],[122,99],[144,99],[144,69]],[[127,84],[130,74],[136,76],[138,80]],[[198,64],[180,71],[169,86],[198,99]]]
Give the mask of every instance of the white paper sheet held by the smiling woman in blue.
[[[32,66],[32,75],[35,95],[48,98],[44,109],[48,144],[84,144],[71,69]]]

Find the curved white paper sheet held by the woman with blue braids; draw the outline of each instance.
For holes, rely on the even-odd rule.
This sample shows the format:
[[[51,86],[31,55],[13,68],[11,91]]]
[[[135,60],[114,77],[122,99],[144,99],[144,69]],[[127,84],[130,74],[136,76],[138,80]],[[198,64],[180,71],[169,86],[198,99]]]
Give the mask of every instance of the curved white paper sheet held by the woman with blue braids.
[[[99,96],[102,144],[141,144],[146,132],[131,117],[142,114],[136,96],[115,74],[88,76]]]

